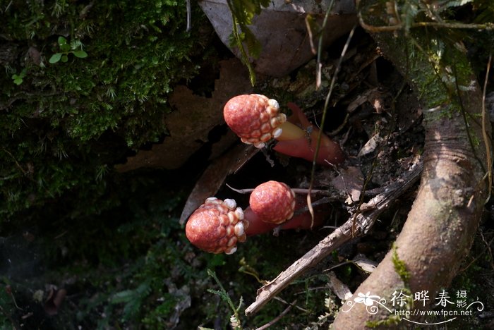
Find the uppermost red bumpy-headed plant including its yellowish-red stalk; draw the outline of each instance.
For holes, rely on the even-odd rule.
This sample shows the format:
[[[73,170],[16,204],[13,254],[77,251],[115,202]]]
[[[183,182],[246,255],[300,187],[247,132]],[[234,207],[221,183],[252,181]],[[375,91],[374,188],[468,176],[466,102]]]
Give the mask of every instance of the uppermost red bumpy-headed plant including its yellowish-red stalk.
[[[301,109],[289,104],[302,127],[287,121],[275,99],[260,94],[243,94],[231,98],[223,109],[224,120],[241,141],[262,148],[271,139],[277,140],[273,149],[291,157],[313,161],[318,141],[318,128],[307,120]],[[316,162],[330,165],[344,161],[339,145],[322,134]]]

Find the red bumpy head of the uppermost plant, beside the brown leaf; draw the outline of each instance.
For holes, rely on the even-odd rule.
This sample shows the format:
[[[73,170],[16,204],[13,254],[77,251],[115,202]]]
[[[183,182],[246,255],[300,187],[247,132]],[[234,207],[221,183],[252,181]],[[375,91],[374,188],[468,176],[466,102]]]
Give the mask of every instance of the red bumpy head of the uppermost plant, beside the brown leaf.
[[[224,121],[242,142],[264,147],[265,142],[282,133],[279,128],[287,116],[279,112],[275,99],[261,94],[243,94],[231,98],[223,109]]]

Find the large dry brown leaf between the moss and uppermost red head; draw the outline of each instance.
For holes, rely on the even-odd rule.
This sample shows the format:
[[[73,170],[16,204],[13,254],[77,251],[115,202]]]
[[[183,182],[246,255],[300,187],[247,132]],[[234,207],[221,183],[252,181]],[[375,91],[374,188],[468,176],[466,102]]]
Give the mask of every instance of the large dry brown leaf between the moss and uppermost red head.
[[[186,86],[175,87],[169,97],[175,110],[164,116],[169,136],[162,143],[153,145],[152,149],[140,150],[135,156],[128,157],[126,164],[116,165],[117,171],[141,167],[177,169],[208,141],[210,130],[224,123],[224,104],[231,97],[252,90],[246,68],[240,61],[229,59],[220,65],[212,97],[193,94]],[[224,152],[236,140],[234,135],[229,135],[229,138],[229,143],[224,143],[218,153]]]

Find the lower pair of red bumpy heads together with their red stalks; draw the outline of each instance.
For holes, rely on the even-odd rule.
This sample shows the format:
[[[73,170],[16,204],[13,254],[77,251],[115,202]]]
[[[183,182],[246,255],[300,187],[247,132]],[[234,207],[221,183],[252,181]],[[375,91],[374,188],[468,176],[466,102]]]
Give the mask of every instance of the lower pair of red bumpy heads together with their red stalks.
[[[212,253],[227,254],[236,251],[236,243],[246,236],[280,229],[311,229],[311,214],[295,214],[303,203],[296,203],[295,194],[288,185],[268,181],[251,194],[251,206],[242,211],[234,200],[210,197],[191,214],[186,224],[186,236],[195,247]],[[316,217],[315,225],[323,217]]]

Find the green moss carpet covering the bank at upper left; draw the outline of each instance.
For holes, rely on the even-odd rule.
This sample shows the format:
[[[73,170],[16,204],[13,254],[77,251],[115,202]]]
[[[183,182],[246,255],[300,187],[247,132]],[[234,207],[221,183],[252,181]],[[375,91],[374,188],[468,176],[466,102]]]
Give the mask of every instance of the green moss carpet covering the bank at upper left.
[[[13,51],[0,61],[2,221],[62,196],[79,204],[73,214],[102,212],[118,176],[100,169],[167,134],[167,97],[198,70],[203,47],[197,29],[186,31],[186,4],[11,1],[5,11]],[[195,23],[205,20],[193,11]],[[61,36],[73,45],[68,61],[49,63],[64,51]],[[20,85],[13,72],[25,73]]]

